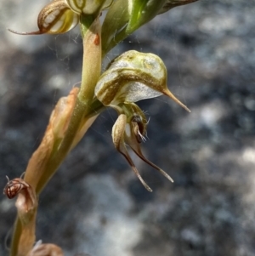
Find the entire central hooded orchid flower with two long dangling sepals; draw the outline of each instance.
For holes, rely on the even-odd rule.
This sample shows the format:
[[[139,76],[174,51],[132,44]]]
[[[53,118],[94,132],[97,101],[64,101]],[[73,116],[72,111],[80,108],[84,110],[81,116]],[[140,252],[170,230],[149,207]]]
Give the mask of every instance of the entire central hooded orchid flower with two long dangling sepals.
[[[108,69],[99,77],[95,88],[95,96],[105,106],[111,106],[118,113],[112,128],[112,139],[116,147],[133,168],[144,187],[151,191],[144,182],[133,160],[128,154],[126,145],[144,162],[156,168],[167,179],[173,179],[161,168],[146,159],[140,149],[145,140],[148,121],[144,112],[134,102],[167,95],[178,105],[190,111],[167,88],[167,70],[162,60],[155,54],[144,54],[128,51],[111,62]]]

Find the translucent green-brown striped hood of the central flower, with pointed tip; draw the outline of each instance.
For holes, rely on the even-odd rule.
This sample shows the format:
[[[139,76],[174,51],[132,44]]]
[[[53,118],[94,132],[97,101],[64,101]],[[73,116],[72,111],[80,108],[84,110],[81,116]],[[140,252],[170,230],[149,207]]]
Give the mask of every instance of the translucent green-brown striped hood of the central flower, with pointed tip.
[[[155,54],[128,51],[117,57],[105,71],[95,88],[104,105],[136,102],[165,94],[190,111],[167,88],[167,69]]]

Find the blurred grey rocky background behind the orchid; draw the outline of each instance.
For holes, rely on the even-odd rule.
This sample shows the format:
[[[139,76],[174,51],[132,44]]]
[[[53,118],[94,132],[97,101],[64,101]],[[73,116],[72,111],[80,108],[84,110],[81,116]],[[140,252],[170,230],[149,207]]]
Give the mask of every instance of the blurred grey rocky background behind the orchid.
[[[37,29],[45,1],[0,3],[0,187],[19,177],[60,96],[80,81],[78,29]],[[136,161],[146,191],[111,141],[105,111],[40,196],[37,240],[65,255],[255,255],[255,1],[203,0],[158,16],[107,56],[158,54],[168,87],[191,113],[160,97],[139,102],[150,117],[144,155],[171,184]],[[135,156],[134,156],[135,157]],[[0,197],[0,255],[8,255],[14,200]],[[5,242],[5,240],[7,242]]]

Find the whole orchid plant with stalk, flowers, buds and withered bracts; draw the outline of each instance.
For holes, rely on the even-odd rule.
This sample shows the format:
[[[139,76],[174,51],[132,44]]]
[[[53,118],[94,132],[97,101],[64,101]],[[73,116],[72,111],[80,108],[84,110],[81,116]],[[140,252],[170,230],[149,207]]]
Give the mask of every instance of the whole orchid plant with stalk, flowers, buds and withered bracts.
[[[120,43],[157,14],[196,0],[54,0],[38,14],[38,31],[18,32],[21,35],[59,34],[80,24],[83,42],[82,82],[55,106],[42,143],[28,162],[24,179],[8,180],[4,193],[16,201],[18,210],[10,256],[63,255],[54,244],[36,242],[37,202],[42,189],[54,175],[65,156],[86,134],[94,120],[107,107],[118,113],[112,128],[116,150],[127,160],[133,172],[148,191],[126,145],[139,158],[167,179],[173,179],[150,162],[141,151],[148,121],[135,102],[167,95],[190,111],[167,88],[167,69],[155,54],[128,51],[112,60],[101,72],[102,59]],[[106,10],[105,20],[99,16]],[[18,189],[17,189],[18,188]],[[44,253],[44,254],[43,254]]]

